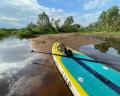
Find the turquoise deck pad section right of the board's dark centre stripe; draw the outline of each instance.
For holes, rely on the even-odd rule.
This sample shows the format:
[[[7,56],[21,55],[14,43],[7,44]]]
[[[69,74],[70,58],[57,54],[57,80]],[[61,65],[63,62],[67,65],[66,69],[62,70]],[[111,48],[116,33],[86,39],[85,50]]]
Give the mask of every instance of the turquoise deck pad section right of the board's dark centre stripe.
[[[81,55],[74,54],[74,56],[92,60],[91,58],[89,58],[88,56],[83,55],[83,54],[81,54]],[[100,64],[100,63],[89,62],[89,61],[84,61],[84,60],[81,60],[81,61],[120,87],[120,73],[119,72],[117,72],[117,71],[115,71],[115,70],[113,70],[113,69],[111,69],[103,64]]]

